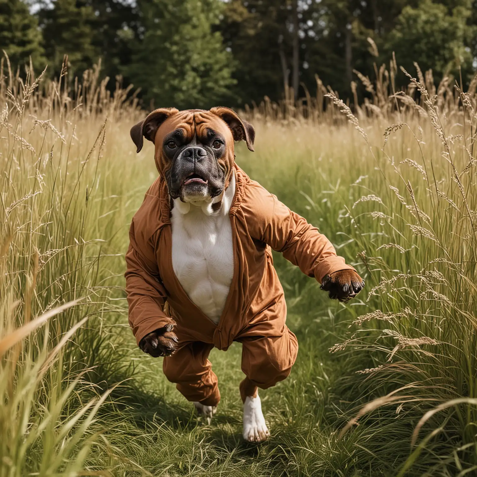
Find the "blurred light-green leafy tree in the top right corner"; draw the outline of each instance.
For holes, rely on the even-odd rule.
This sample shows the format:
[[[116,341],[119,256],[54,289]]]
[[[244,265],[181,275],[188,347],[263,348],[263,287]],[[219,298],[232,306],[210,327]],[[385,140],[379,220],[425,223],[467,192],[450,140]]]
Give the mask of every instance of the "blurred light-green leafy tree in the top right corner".
[[[422,70],[432,68],[440,78],[446,71],[458,74],[460,66],[467,79],[472,71],[472,39],[477,35],[477,27],[467,23],[471,4],[446,3],[422,0],[417,8],[404,7],[388,37],[386,51],[394,51],[408,72],[415,71],[413,62],[417,62]]]

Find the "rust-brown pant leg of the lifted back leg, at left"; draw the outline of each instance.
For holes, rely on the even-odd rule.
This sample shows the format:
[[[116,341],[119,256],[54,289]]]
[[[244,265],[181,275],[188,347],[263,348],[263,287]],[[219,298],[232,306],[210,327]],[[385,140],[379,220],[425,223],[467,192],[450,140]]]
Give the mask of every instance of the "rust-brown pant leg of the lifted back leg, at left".
[[[163,370],[188,401],[216,406],[220,401],[218,380],[207,359],[213,344],[189,342],[164,358]]]

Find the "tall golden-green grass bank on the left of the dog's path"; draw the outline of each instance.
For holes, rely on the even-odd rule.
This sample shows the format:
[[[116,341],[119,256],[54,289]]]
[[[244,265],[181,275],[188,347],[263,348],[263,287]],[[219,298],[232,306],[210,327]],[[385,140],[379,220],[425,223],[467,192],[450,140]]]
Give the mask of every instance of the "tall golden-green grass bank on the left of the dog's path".
[[[0,82],[0,475],[80,472],[110,392],[98,370],[118,367],[115,233],[127,231],[134,191],[121,194],[125,164],[101,163],[122,147],[106,145],[106,120],[134,117],[135,104],[94,74],[74,99],[64,76]]]

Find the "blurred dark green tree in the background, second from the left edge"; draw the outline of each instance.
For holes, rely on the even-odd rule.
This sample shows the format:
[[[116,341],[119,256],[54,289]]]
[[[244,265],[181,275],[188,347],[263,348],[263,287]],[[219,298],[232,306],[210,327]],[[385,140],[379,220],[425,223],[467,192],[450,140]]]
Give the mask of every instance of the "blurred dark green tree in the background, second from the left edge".
[[[66,54],[71,77],[97,62],[99,51],[92,42],[95,15],[91,6],[76,0],[55,0],[52,6],[43,6],[39,17],[50,74],[60,74]]]

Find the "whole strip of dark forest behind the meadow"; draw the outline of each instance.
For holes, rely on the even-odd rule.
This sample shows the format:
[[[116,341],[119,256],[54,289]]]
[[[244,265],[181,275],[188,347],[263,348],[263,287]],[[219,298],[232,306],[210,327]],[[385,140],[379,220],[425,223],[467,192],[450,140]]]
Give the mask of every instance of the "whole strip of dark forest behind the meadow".
[[[101,59],[110,87],[133,83],[146,108],[304,96],[316,75],[346,99],[354,70],[374,78],[393,52],[414,75],[418,62],[467,83],[477,0],[0,0],[0,48],[14,72],[31,57],[50,77],[68,54],[70,81]]]

